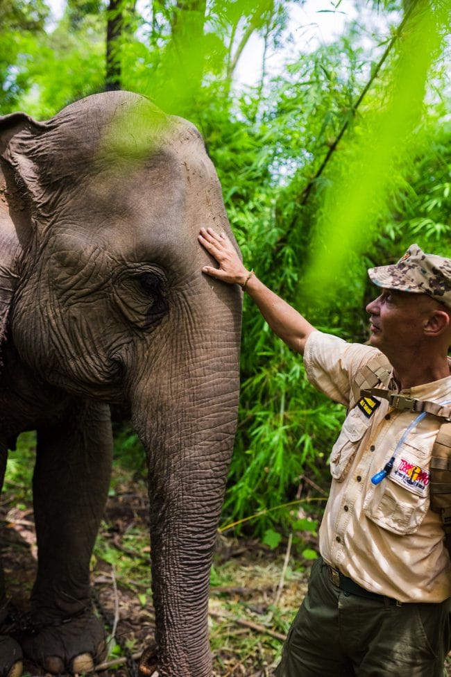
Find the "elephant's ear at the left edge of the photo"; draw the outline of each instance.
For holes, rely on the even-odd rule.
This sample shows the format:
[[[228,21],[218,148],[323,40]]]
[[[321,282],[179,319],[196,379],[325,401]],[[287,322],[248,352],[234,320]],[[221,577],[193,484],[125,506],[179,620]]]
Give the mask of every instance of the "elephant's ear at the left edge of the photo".
[[[33,181],[33,172],[30,163],[19,161],[15,145],[24,130],[40,126],[21,112],[0,117],[0,365],[12,296],[18,281],[17,261],[31,235],[26,185]],[[19,171],[19,166],[25,167],[26,171]]]

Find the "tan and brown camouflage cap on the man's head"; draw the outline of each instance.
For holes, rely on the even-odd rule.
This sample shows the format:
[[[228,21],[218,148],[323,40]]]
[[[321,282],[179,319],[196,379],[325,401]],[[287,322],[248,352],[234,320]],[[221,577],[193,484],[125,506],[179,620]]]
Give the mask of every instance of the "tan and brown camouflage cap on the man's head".
[[[378,287],[428,294],[451,308],[451,259],[425,254],[418,244],[409,246],[398,263],[370,268],[368,275]]]

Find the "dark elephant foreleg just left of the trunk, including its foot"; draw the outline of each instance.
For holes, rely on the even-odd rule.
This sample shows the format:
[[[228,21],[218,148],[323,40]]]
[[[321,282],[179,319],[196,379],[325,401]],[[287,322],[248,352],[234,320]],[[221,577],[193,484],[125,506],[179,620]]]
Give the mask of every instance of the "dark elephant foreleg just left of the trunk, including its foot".
[[[112,433],[108,407],[75,403],[37,431],[33,501],[38,548],[31,596],[37,632],[24,653],[53,674],[92,671],[105,650],[91,609],[90,558],[108,496]]]

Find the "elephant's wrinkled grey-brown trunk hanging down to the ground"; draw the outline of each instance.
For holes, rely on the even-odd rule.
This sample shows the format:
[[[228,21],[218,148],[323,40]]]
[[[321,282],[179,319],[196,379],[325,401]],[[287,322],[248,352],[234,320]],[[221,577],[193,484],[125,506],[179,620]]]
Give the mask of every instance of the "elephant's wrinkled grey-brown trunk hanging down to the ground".
[[[237,420],[237,301],[166,358],[158,383],[152,370],[152,383],[135,391],[133,423],[148,455],[160,677],[211,676],[208,590]]]

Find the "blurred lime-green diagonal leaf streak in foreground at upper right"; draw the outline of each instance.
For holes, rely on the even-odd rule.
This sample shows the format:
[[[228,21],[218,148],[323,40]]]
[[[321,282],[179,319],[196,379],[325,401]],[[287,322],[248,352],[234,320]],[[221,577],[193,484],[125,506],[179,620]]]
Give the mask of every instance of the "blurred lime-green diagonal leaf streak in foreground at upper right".
[[[377,92],[377,99],[366,106],[354,134],[334,157],[334,182],[318,210],[313,260],[305,278],[316,299],[330,295],[348,252],[364,251],[373,240],[377,217],[397,188],[393,169],[405,166],[416,150],[427,75],[450,13],[450,8],[434,12],[429,4],[418,3],[405,25],[404,39],[397,43],[393,67],[385,74],[385,91]],[[358,181],[350,182],[350,176],[358,176]]]

